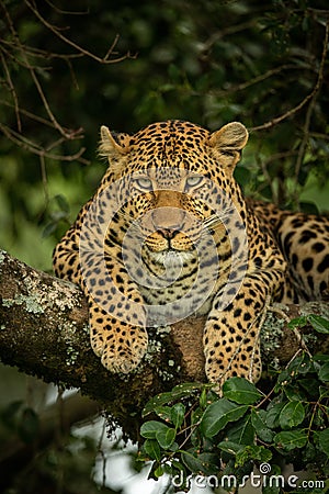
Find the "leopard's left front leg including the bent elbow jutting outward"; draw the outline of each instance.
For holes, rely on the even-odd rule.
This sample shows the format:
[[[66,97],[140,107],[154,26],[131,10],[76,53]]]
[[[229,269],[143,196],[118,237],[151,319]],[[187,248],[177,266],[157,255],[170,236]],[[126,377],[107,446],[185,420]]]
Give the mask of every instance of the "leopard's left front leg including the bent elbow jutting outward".
[[[138,366],[148,345],[143,297],[118,262],[97,254],[100,248],[95,239],[82,258],[78,242],[72,227],[55,249],[55,273],[79,284],[84,292],[90,343],[102,364],[112,372],[128,373]]]

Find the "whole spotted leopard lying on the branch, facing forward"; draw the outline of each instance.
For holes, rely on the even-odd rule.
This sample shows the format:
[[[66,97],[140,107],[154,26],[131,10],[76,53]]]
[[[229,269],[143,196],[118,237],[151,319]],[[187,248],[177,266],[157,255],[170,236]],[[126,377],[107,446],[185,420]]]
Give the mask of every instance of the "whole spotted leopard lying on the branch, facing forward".
[[[151,327],[205,315],[207,380],[257,382],[271,304],[328,297],[328,217],[245,198],[234,172],[248,138],[240,122],[101,126],[109,167],[53,263],[87,296],[91,347],[110,372],[136,371]]]

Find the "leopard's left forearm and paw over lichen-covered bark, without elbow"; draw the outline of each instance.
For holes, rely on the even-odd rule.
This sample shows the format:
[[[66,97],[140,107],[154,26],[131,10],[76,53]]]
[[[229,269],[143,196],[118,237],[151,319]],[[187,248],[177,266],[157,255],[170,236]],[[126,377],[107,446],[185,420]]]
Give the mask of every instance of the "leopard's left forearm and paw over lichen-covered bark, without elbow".
[[[84,270],[84,290],[91,347],[111,372],[129,373],[148,345],[144,300],[117,259],[94,254],[89,262],[92,269]]]

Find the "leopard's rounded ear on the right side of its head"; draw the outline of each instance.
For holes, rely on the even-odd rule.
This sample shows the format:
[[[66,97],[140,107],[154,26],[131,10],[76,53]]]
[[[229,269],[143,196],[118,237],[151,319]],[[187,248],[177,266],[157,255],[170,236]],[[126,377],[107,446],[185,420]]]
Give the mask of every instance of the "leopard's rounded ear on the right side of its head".
[[[208,144],[220,157],[220,165],[231,170],[240,159],[241,150],[248,142],[248,131],[240,122],[231,122],[213,132]]]

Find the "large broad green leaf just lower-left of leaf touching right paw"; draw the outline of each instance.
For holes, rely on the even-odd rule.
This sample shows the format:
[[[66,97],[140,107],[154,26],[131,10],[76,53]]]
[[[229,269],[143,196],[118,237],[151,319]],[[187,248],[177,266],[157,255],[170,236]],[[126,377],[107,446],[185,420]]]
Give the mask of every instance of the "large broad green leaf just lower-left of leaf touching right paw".
[[[248,405],[237,405],[227,398],[212,403],[203,414],[200,430],[205,437],[214,437],[234,420],[238,420],[248,409]]]

